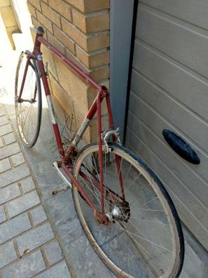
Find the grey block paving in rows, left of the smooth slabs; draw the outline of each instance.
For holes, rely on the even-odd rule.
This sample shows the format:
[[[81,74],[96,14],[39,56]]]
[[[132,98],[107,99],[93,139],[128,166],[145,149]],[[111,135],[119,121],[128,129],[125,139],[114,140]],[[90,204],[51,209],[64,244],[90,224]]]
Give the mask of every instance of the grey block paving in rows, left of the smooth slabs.
[[[0,106],[0,277],[70,277],[27,158]]]

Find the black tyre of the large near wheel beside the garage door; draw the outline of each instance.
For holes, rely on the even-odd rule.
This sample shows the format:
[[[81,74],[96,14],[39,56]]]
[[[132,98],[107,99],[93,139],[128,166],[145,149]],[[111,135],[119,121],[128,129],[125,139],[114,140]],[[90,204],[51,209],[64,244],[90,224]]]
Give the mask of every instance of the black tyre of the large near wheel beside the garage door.
[[[78,162],[79,157],[81,156],[81,154],[89,147],[95,146],[97,145],[97,143],[92,143],[90,145],[87,145],[85,147],[83,147],[83,149],[81,150],[81,152],[78,154],[78,157],[76,158],[75,161],[75,166]],[[125,152],[126,154],[130,155],[130,157],[132,157],[132,159],[136,160],[143,168],[144,170],[148,173],[149,176],[151,176],[151,178],[155,181],[155,183],[158,185],[160,192],[162,193],[162,196],[166,199],[167,204],[169,206],[169,210],[172,213],[172,217],[174,219],[174,223],[176,224],[176,233],[179,239],[179,263],[178,263],[178,267],[176,269],[176,274],[174,274],[173,277],[169,277],[169,278],[178,278],[179,274],[181,273],[182,267],[183,267],[183,260],[184,260],[184,239],[183,239],[183,232],[182,232],[182,227],[181,227],[181,221],[179,219],[179,215],[176,211],[176,208],[174,206],[174,203],[171,199],[171,197],[169,197],[169,194],[167,192],[167,190],[165,189],[164,185],[162,185],[162,183],[160,182],[159,178],[155,175],[155,173],[151,170],[151,168],[149,168],[147,166],[147,164],[136,154],[134,154],[131,150],[128,150],[126,147],[123,147],[121,145],[118,145],[117,143],[109,143],[109,147],[117,147],[118,149],[122,150],[123,152]],[[76,175],[75,175],[76,176]],[[77,178],[77,176],[76,176]],[[78,218],[81,222],[81,226],[83,227],[83,230],[88,238],[88,240],[90,241],[90,244],[92,246],[92,248],[96,251],[96,253],[98,254],[98,256],[104,261],[104,263],[111,269],[111,267],[108,265],[108,263],[104,260],[104,258],[102,258],[101,254],[99,253],[99,250],[96,248],[95,246],[95,242],[96,241],[94,239],[94,237],[92,236],[92,238],[94,239],[94,241],[92,241],[92,238],[89,237],[89,234],[86,232],[85,228],[85,224],[83,224],[83,222],[81,221],[81,216],[79,215],[78,212],[78,208],[76,206],[76,201],[75,201],[75,194],[77,194],[78,190],[76,190],[76,187],[73,187],[72,190],[72,196],[74,199],[74,206],[76,209],[76,213],[78,215]],[[98,244],[97,244],[98,245]],[[103,251],[102,251],[103,252]],[[104,253],[104,252],[103,252]],[[115,274],[118,275],[118,273],[116,273],[113,269],[111,269]]]

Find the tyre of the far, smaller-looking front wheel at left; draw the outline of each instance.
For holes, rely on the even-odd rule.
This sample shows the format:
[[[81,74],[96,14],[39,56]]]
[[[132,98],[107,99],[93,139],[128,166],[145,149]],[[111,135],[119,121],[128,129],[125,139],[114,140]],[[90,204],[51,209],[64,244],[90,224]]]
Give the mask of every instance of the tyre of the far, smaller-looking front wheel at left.
[[[23,56],[27,55],[25,54],[25,52],[22,51],[22,53],[20,54],[20,58],[18,60],[18,65],[17,65],[17,69],[16,69],[16,74],[15,74],[15,99],[18,96],[18,76],[19,76],[19,71],[20,71],[20,65],[21,62],[23,60]],[[41,93],[41,79],[39,77],[39,70],[38,67],[36,65],[36,60],[32,59],[32,62],[29,64],[29,66],[32,67],[32,69],[34,70],[35,74],[36,74],[36,85],[37,85],[37,93],[39,96],[39,102],[38,102],[38,119],[37,119],[37,125],[36,125],[36,131],[34,134],[34,138],[32,140],[32,142],[30,143],[25,143],[25,140],[22,138],[22,133],[20,132],[20,126],[18,125],[18,131],[20,134],[20,138],[22,140],[22,143],[26,146],[26,147],[33,147],[37,141],[37,139],[39,138],[39,133],[40,133],[40,129],[41,129],[41,117],[42,117],[42,93]],[[17,116],[17,108],[16,108],[16,104],[15,104],[15,109],[16,109],[16,117],[17,117],[17,121],[18,121],[18,116]]]

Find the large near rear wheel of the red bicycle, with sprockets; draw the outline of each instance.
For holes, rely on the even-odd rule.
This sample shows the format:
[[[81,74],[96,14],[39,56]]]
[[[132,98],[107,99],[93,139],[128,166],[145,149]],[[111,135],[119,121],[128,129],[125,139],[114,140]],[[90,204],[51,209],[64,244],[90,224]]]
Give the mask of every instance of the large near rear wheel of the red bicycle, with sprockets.
[[[74,204],[90,244],[118,277],[179,277],[183,234],[165,187],[143,161],[118,144],[103,147],[104,210],[109,225],[98,225],[93,211],[74,186]],[[98,145],[85,147],[75,176],[101,211]],[[119,161],[119,163],[118,163]],[[123,180],[121,189],[120,176]],[[122,193],[123,192],[123,193]]]

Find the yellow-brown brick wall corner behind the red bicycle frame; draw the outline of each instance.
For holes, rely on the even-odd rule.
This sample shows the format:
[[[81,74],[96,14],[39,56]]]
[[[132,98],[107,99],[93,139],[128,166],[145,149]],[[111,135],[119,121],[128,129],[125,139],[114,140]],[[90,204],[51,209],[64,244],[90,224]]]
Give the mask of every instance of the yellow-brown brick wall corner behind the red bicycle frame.
[[[109,86],[109,0],[28,0],[28,8],[34,27],[43,26],[50,43],[93,79]],[[57,116],[64,121],[73,114],[76,129],[97,92],[48,49],[41,49],[43,60],[48,62],[53,100],[61,107]],[[105,125],[106,107],[102,107]],[[85,140],[96,140],[96,117]]]

